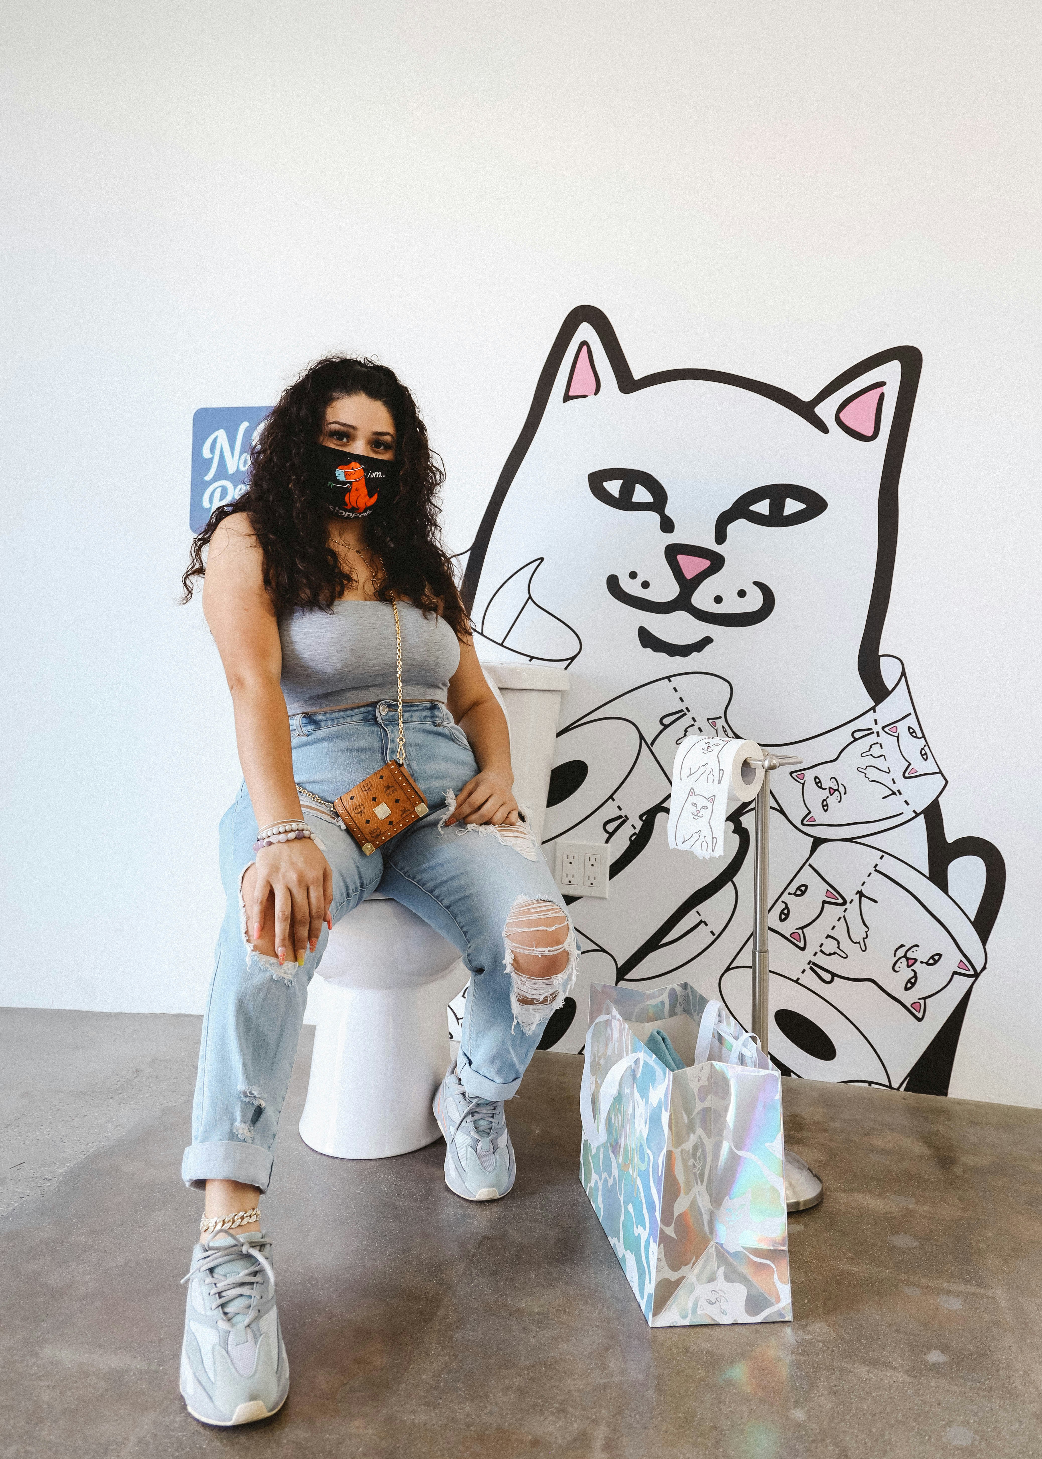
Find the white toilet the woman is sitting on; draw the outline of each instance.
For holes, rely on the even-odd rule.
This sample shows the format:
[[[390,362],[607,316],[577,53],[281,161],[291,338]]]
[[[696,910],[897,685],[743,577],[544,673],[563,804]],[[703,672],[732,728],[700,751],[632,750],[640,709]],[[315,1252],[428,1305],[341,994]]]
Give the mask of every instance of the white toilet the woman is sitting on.
[[[541,840],[568,674],[537,664],[483,668],[511,731],[514,794]],[[449,1058],[445,1008],[470,978],[455,947],[377,894],[333,928],[318,976],[302,1139],[343,1160],[401,1156],[438,1139],[431,1103]]]

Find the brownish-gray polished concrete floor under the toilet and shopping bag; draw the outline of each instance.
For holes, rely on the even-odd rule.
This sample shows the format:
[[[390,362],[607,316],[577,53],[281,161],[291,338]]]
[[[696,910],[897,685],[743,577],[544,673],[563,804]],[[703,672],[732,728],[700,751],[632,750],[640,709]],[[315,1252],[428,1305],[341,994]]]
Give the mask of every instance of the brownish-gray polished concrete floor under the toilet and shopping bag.
[[[826,1180],[790,1224],[795,1320],[651,1332],[578,1180],[581,1059],[536,1055],[517,1186],[471,1207],[441,1142],[304,1145],[309,1029],[267,1204],[290,1396],[252,1428],[194,1423],[197,1030],[0,1011],[0,1455],[1042,1455],[1042,1113],[785,1081],[788,1141]]]

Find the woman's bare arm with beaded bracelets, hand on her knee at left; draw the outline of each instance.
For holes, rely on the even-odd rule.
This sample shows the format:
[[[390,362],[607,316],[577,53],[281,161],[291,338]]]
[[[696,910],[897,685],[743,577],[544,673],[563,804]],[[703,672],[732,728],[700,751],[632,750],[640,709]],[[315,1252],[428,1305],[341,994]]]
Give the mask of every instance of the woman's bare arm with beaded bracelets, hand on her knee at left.
[[[210,626],[235,708],[239,765],[258,826],[301,820],[293,782],[289,715],[279,687],[279,622],[264,589],[263,553],[247,512],[226,516],[210,543],[203,579]],[[327,921],[333,874],[312,840],[282,842],[257,854],[252,941],[261,940],[274,897],[274,948],[302,963]]]

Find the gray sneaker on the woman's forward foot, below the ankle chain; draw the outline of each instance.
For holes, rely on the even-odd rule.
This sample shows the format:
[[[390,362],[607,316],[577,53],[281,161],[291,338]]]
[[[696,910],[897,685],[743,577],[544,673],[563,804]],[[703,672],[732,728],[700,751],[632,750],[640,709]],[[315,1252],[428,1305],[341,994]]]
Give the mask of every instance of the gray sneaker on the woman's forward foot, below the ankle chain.
[[[181,1395],[204,1424],[252,1424],[286,1402],[270,1252],[258,1231],[216,1231],[191,1253]]]

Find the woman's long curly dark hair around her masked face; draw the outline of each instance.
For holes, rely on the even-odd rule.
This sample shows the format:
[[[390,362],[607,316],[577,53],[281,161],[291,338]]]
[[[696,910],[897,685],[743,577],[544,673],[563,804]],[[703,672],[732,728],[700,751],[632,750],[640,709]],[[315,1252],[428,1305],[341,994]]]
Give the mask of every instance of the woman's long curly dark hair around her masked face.
[[[470,622],[438,522],[438,489],[445,468],[431,449],[416,401],[385,365],[340,355],[308,365],[279,397],[251,457],[248,492],[219,506],[193,540],[181,601],[188,603],[194,579],[206,573],[203,553],[217,525],[235,512],[250,514],[264,553],[264,587],[277,614],[296,607],[331,608],[352,585],[350,573],[328,543],[328,511],[306,486],[325,407],[341,395],[381,401],[397,435],[397,495],[390,511],[366,518],[368,543],[384,560],[378,597],[385,603],[391,595],[407,598],[423,611],[441,613],[457,638],[470,638]]]

